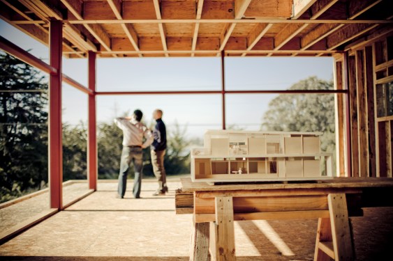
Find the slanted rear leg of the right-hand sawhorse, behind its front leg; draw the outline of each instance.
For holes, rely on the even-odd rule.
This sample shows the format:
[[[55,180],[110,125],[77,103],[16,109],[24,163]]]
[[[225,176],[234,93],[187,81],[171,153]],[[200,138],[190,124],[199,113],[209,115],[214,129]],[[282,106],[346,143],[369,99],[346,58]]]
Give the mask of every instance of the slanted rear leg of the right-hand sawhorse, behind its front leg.
[[[329,216],[318,219],[318,229],[316,237],[316,250],[314,252],[314,260],[316,261],[330,261],[334,255],[327,253],[325,249],[320,248],[320,242],[332,242],[332,227],[330,226]]]

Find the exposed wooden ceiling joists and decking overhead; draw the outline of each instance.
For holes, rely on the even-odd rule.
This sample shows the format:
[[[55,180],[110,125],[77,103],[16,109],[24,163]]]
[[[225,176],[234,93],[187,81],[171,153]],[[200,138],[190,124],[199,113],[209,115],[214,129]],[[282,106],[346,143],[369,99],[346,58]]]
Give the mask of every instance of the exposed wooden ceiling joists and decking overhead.
[[[393,30],[388,0],[0,0],[0,18],[70,58],[331,56]]]

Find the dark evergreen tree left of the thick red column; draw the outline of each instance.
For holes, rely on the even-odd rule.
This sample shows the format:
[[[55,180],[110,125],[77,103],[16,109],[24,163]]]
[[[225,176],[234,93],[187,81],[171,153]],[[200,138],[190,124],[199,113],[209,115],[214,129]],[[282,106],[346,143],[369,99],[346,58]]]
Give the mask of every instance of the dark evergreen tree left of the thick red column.
[[[47,183],[47,80],[0,53],[1,201]]]

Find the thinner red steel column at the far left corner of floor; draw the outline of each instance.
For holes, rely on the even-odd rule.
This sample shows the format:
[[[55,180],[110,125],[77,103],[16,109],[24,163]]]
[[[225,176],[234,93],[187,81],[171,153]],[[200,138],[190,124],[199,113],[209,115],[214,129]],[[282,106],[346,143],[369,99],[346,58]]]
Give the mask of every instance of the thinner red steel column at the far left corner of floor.
[[[97,190],[96,53],[89,52],[89,131],[87,134],[87,173],[89,189]]]

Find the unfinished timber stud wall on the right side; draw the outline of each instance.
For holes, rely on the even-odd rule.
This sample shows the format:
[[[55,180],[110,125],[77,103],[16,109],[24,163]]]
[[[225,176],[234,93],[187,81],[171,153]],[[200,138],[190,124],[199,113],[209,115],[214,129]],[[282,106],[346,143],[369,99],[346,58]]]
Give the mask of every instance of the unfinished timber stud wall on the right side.
[[[393,33],[335,58],[336,88],[348,90],[336,97],[339,175],[350,168],[353,177],[392,177],[393,116],[378,116],[377,108],[380,88],[393,81]]]

